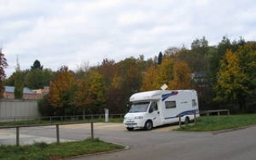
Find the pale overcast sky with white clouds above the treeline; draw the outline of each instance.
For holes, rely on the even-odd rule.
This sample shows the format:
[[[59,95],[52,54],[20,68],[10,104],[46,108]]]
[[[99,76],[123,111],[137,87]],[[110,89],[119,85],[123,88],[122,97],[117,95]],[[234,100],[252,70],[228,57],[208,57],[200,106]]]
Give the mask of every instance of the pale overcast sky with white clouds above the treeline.
[[[0,47],[9,63],[30,69],[38,59],[58,70],[104,58],[154,58],[168,47],[190,48],[206,36],[256,40],[254,0],[0,0]]]

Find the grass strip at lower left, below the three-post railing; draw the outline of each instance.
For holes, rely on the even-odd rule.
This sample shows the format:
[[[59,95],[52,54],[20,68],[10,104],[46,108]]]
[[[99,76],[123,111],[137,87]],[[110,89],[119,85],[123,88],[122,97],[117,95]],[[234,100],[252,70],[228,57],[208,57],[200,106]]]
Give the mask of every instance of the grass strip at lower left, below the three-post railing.
[[[124,146],[86,139],[81,142],[51,143],[37,142],[26,146],[0,146],[0,159],[5,160],[54,160],[82,154],[123,149]]]

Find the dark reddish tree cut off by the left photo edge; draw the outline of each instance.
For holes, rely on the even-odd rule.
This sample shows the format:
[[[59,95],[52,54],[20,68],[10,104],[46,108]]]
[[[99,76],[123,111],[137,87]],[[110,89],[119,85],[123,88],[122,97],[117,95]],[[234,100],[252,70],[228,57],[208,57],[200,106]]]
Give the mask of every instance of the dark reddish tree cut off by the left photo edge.
[[[8,66],[6,62],[5,54],[2,54],[2,48],[0,48],[0,97],[4,91],[3,81],[6,78],[5,68]]]

